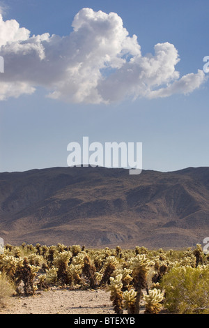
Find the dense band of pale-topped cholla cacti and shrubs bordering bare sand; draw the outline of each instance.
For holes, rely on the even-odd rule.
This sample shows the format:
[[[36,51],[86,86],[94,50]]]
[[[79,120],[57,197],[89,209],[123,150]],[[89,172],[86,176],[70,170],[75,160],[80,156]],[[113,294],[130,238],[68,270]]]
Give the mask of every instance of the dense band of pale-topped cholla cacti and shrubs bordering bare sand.
[[[209,313],[209,258],[199,244],[185,251],[6,244],[0,277],[15,297],[102,289],[117,314]]]

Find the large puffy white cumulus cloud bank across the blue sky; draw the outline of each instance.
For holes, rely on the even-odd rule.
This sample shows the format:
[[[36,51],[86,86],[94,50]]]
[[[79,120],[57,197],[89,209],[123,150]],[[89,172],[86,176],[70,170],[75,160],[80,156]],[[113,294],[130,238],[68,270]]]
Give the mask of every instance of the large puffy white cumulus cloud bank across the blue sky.
[[[157,98],[188,94],[205,80],[202,70],[180,77],[180,60],[171,43],[158,43],[154,54],[141,55],[137,36],[130,36],[116,13],[83,8],[68,36],[31,36],[16,20],[0,15],[0,100],[32,94],[73,103],[110,103],[126,97]]]

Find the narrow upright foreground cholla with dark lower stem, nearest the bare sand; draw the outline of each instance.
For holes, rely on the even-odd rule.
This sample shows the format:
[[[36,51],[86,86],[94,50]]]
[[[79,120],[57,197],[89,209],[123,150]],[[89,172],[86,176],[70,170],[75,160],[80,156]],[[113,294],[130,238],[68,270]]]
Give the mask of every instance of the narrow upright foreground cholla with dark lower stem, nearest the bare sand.
[[[113,302],[114,311],[117,314],[123,314],[123,292],[121,288],[123,283],[121,282],[122,274],[118,274],[116,278],[110,277],[110,285],[107,291],[111,292],[110,299]]]

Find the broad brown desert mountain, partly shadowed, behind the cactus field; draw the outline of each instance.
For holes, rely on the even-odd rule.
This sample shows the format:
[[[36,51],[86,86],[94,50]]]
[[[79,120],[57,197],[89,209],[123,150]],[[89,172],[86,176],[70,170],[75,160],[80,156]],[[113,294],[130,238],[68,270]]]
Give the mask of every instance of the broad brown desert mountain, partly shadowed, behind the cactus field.
[[[5,244],[185,248],[209,237],[209,167],[53,167],[0,173]]]

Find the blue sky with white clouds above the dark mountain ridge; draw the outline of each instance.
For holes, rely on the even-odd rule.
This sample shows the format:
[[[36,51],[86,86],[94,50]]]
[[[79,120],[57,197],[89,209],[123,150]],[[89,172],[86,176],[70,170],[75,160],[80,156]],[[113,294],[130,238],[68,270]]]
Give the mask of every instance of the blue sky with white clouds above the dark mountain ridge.
[[[0,13],[0,172],[66,167],[84,136],[142,142],[144,170],[208,166],[208,0],[6,0]]]

